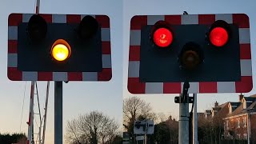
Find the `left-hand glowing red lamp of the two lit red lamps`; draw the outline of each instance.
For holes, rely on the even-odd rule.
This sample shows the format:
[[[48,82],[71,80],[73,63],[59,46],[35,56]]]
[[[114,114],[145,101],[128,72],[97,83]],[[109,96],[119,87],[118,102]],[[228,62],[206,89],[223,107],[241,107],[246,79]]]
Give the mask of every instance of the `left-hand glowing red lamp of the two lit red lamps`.
[[[153,41],[159,47],[170,46],[173,42],[173,34],[166,28],[159,28],[154,31]]]

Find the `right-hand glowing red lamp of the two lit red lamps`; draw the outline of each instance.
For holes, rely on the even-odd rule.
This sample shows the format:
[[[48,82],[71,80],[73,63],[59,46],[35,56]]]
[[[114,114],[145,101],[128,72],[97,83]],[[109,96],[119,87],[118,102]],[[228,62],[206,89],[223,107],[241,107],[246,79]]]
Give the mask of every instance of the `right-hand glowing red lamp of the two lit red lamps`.
[[[215,27],[213,30],[210,31],[210,42],[214,46],[224,46],[229,39],[229,34],[227,31],[222,27]]]

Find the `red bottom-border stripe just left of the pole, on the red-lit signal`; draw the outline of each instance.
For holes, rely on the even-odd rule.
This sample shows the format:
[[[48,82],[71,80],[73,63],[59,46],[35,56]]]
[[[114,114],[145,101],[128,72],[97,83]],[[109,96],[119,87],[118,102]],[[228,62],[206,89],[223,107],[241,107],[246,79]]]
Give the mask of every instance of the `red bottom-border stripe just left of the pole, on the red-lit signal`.
[[[164,94],[180,94],[182,92],[181,82],[164,82],[163,93]]]

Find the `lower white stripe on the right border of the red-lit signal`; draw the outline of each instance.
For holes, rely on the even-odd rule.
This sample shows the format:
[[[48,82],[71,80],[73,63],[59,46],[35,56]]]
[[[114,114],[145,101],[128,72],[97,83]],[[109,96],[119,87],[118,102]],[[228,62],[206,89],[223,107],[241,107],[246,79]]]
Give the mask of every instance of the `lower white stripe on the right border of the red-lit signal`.
[[[252,76],[251,59],[241,59],[241,76]]]

